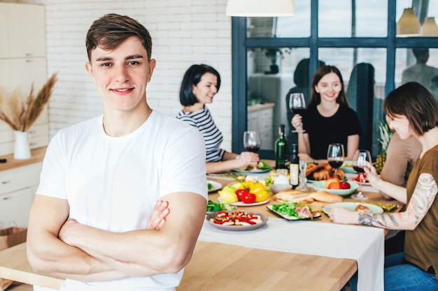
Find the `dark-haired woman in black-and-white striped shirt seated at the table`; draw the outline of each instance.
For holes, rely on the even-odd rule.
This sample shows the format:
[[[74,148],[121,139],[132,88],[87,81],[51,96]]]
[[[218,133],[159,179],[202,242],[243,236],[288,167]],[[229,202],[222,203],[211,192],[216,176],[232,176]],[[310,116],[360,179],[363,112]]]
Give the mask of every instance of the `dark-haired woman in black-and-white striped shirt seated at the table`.
[[[258,154],[243,151],[240,155],[220,148],[223,136],[213,121],[207,103],[213,102],[220,87],[217,70],[204,64],[192,65],[181,83],[180,101],[183,110],[176,118],[195,126],[204,136],[207,174],[246,168],[259,161]]]

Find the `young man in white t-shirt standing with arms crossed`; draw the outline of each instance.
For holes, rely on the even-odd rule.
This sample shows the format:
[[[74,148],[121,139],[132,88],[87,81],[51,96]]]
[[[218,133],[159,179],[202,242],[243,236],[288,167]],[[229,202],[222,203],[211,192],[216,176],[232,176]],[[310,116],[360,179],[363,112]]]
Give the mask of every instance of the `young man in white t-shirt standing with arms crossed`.
[[[62,290],[175,290],[205,217],[203,137],[149,107],[155,59],[143,25],[104,15],[86,43],[104,114],[50,141],[29,262],[67,278]]]

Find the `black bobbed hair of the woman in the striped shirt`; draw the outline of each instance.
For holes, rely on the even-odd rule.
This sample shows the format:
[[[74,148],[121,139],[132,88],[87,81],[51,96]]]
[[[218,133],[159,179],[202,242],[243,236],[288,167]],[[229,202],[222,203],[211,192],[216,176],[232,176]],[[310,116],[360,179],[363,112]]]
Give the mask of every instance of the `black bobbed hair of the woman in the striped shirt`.
[[[200,64],[200,65],[192,65],[188,70],[185,71],[183,82],[181,82],[181,89],[179,92],[179,100],[181,105],[190,106],[195,103],[198,103],[196,96],[193,95],[193,86],[196,86],[199,81],[201,81],[201,77],[205,73],[211,73],[218,78],[217,88],[219,91],[220,88],[220,75],[217,70],[212,68],[211,66]]]

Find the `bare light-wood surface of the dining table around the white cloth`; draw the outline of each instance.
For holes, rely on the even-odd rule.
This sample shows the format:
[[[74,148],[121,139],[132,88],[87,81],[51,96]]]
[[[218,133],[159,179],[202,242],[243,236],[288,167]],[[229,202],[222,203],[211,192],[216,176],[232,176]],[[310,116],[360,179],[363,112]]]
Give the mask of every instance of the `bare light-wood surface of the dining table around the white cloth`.
[[[218,181],[223,186],[232,183],[230,179],[218,177],[209,177],[209,180]],[[388,203],[380,197],[379,193],[365,194],[369,196],[367,202]],[[209,200],[217,202],[218,193],[210,193]],[[348,197],[345,200],[353,201]],[[244,209],[277,217],[267,209],[267,205],[274,203],[271,199],[267,204]],[[325,214],[322,214],[318,221],[331,223],[330,218]],[[185,267],[183,279],[176,290],[338,291],[357,270],[356,260],[348,258],[197,241],[192,259]],[[59,290],[64,281],[64,278],[55,278],[33,271],[27,261],[26,243],[0,252],[0,278],[54,290]]]

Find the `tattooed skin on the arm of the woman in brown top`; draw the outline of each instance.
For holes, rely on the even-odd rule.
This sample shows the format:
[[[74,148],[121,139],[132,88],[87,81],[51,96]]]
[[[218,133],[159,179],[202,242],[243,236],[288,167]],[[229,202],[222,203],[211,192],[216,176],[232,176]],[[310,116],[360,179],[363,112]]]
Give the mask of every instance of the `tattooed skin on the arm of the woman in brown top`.
[[[411,221],[415,226],[421,222],[427,214],[432,202],[437,196],[438,186],[431,174],[423,173],[418,178],[414,193],[409,201],[407,212],[410,212],[414,221]],[[389,229],[400,229],[402,215],[396,214],[359,214],[358,223],[361,225],[369,225],[383,227]]]

